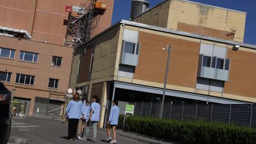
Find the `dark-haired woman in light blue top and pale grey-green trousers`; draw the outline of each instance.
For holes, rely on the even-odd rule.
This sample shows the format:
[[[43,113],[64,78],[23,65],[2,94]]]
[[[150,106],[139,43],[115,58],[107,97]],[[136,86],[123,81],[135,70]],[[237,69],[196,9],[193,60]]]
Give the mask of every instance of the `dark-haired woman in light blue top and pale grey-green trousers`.
[[[97,125],[100,119],[100,104],[99,104],[99,97],[97,95],[92,96],[92,101],[93,103],[91,104],[91,110],[90,110],[90,116],[89,116],[89,121],[88,125],[86,128],[86,132],[82,140],[87,140],[87,137],[90,132],[90,127],[93,127],[93,138],[92,142],[96,142],[96,135],[97,135]]]

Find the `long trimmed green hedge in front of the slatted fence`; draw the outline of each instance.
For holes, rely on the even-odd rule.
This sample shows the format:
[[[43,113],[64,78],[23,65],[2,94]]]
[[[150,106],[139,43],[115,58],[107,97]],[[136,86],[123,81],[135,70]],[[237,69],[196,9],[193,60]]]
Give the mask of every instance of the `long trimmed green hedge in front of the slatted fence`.
[[[123,119],[123,117],[121,117]],[[236,125],[203,121],[129,116],[125,130],[187,144],[255,144],[256,130]]]

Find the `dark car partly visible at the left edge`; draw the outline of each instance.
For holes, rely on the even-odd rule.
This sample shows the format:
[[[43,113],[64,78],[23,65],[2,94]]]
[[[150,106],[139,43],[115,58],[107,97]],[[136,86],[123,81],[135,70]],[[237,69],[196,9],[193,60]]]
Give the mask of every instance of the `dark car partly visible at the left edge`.
[[[11,133],[12,93],[0,80],[0,144],[6,144]]]

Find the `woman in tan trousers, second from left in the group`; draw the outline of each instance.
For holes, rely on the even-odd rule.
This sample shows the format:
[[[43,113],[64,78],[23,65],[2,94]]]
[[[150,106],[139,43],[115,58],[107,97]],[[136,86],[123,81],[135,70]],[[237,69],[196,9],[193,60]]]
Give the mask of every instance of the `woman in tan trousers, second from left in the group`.
[[[81,139],[83,137],[82,133],[85,129],[85,123],[89,121],[90,115],[90,103],[87,99],[87,94],[82,95],[82,113],[81,118],[79,119],[78,127],[77,127],[77,139]]]

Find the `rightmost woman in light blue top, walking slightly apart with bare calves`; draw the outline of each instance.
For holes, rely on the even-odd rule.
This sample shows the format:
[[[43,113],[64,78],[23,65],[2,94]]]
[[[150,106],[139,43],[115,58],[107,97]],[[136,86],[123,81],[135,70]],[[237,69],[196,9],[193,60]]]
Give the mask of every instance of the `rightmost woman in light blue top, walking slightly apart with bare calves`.
[[[111,141],[111,136],[110,136],[111,128],[113,131],[113,140],[110,143],[116,143],[116,127],[118,125],[118,118],[119,118],[118,101],[115,100],[115,101],[113,101],[113,106],[112,106],[112,108],[110,110],[110,114],[109,114],[108,128],[107,128],[107,133],[108,133],[107,143],[109,143]]]

